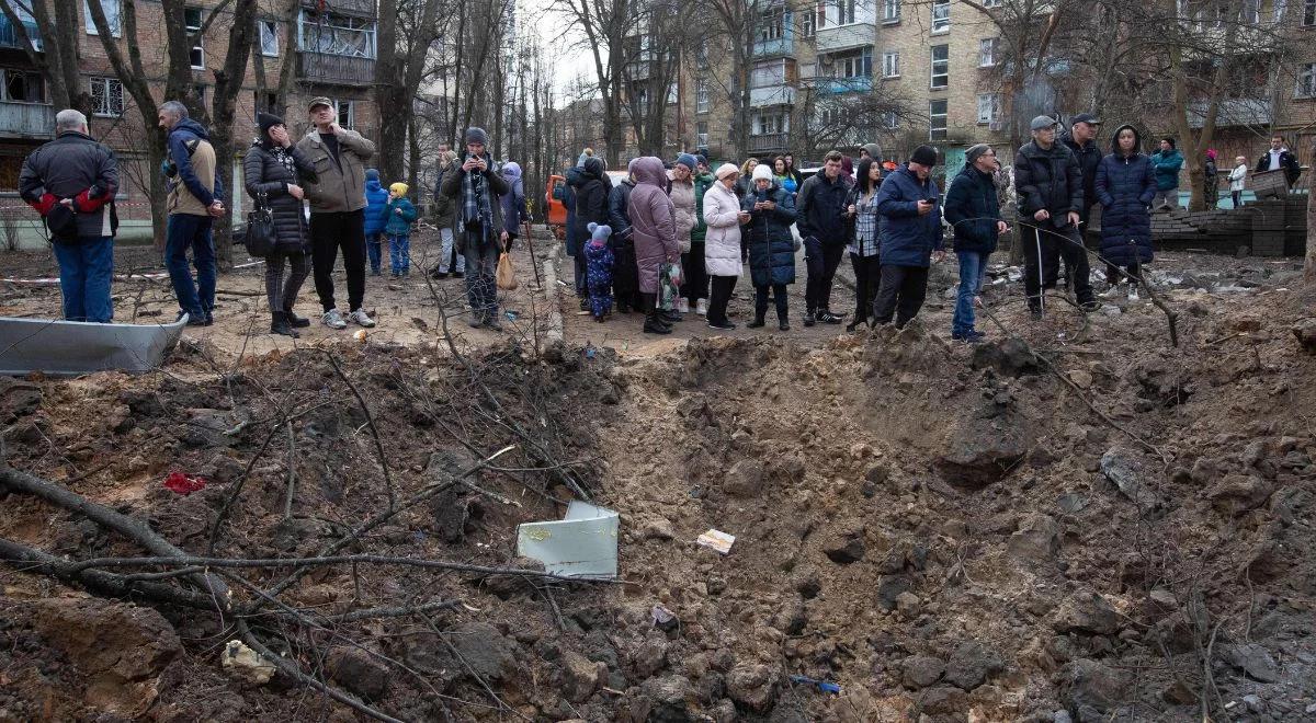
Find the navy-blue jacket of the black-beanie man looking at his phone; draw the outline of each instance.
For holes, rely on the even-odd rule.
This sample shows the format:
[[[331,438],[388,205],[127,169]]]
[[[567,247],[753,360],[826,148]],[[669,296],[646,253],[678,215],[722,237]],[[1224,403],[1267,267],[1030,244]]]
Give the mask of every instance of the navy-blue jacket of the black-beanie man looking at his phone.
[[[901,166],[882,180],[878,213],[882,214],[882,266],[926,268],[932,252],[941,248],[941,202],[919,216],[919,201],[937,198],[937,181],[919,176]]]

